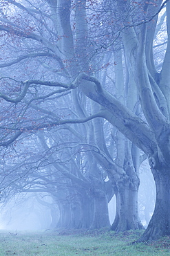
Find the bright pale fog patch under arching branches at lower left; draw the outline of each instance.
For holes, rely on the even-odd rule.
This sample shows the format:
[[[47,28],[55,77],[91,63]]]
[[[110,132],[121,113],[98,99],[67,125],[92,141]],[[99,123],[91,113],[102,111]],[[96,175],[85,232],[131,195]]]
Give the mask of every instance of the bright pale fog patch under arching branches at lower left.
[[[52,221],[50,208],[38,203],[34,196],[17,199],[12,199],[3,205],[1,229],[45,230],[50,227]]]

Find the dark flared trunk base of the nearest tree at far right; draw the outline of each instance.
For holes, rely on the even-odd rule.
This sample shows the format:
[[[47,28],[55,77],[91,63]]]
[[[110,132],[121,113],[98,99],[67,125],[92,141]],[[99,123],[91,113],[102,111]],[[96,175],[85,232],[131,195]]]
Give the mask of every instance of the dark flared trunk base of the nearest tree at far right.
[[[152,163],[153,164],[153,163]],[[170,170],[151,168],[156,182],[156,206],[147,230],[138,241],[156,240],[170,235]]]

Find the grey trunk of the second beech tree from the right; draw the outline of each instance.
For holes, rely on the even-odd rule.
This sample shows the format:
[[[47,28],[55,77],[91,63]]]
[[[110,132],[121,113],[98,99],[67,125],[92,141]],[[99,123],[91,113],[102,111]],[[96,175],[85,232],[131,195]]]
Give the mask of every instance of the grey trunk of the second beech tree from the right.
[[[138,217],[138,186],[131,185],[128,177],[119,183],[116,194],[116,217],[111,230],[123,232],[125,230],[142,229]]]

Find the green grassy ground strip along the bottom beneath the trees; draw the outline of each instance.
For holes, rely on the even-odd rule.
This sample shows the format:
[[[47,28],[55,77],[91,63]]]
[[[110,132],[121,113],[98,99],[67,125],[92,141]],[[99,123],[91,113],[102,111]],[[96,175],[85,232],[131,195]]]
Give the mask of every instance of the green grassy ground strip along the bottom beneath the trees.
[[[132,244],[140,231],[114,232],[0,232],[0,255],[170,255],[170,237]]]

